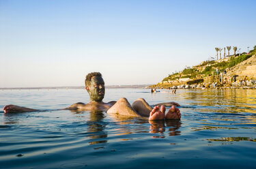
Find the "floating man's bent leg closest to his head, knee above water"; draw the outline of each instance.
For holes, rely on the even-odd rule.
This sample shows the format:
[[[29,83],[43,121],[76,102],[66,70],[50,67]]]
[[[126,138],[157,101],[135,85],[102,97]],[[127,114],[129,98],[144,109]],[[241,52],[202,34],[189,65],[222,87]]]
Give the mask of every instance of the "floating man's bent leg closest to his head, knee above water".
[[[140,117],[139,114],[130,106],[130,103],[126,98],[121,98],[117,100],[117,102],[107,110],[108,114],[120,114],[130,117]]]

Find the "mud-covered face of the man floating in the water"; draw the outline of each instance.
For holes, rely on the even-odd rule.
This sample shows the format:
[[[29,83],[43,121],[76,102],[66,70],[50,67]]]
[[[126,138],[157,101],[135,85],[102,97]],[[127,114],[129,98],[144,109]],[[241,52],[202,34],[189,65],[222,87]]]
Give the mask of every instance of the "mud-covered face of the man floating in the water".
[[[91,84],[87,87],[91,101],[101,102],[105,95],[104,80],[100,76],[93,76]]]

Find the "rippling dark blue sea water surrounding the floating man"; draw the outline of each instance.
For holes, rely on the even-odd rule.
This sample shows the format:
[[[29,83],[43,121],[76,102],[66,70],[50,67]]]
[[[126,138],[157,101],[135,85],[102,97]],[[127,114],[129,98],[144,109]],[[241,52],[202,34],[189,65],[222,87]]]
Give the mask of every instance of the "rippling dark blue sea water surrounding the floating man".
[[[106,89],[104,101],[180,103],[181,121],[70,111],[82,89],[0,91],[0,168],[256,168],[256,90],[150,93]],[[3,114],[17,104],[46,112]]]

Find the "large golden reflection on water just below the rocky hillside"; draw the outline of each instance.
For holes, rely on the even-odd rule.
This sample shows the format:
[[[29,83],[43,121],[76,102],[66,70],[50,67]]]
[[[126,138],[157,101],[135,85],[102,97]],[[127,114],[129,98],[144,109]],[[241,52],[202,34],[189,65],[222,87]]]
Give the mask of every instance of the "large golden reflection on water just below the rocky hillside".
[[[206,106],[203,111],[256,113],[256,91],[245,89],[212,89],[184,93],[191,105]],[[210,107],[209,107],[210,106]]]

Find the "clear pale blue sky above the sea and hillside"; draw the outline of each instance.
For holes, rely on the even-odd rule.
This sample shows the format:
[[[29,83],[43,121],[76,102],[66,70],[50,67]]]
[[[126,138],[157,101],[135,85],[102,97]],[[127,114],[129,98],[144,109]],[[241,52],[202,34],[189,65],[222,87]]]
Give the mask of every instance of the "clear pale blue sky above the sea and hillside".
[[[156,84],[256,45],[256,1],[0,0],[0,87]],[[231,54],[233,51],[231,50]]]

